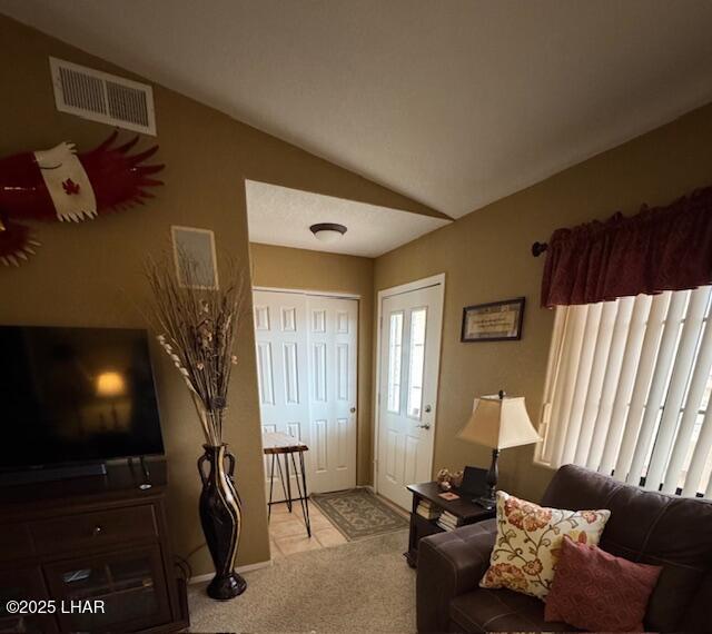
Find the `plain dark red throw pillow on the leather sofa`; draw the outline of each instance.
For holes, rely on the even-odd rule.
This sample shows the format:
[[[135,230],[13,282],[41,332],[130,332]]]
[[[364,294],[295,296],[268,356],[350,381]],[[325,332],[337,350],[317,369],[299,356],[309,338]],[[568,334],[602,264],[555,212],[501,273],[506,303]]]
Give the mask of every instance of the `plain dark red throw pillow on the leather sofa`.
[[[643,632],[661,569],[564,536],[544,618],[594,632]]]

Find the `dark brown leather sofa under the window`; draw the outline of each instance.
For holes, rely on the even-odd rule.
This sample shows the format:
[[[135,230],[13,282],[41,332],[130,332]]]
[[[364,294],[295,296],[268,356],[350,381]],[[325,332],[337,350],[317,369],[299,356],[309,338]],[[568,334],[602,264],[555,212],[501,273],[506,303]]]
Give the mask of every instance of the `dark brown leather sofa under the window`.
[[[663,566],[644,625],[650,632],[712,632],[712,503],[645,492],[573,465],[554,475],[543,506],[609,508],[601,547]],[[424,538],[418,546],[418,632],[562,632],[544,603],[478,586],[490,563],[496,521]]]

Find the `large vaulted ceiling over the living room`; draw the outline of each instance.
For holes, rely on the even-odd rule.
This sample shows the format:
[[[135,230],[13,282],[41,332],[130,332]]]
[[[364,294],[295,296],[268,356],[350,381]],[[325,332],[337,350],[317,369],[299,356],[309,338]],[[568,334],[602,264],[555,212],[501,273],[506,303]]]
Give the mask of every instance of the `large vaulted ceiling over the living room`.
[[[712,100],[704,0],[0,0],[0,11],[451,216]]]

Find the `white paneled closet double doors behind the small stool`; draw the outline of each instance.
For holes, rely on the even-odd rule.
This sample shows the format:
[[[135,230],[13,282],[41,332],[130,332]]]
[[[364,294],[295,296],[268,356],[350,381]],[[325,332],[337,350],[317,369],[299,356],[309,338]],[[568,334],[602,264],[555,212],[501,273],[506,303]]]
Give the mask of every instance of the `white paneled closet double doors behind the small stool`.
[[[307,444],[309,493],[353,488],[358,301],[255,290],[253,303],[263,429]],[[269,476],[267,458],[268,494]],[[281,499],[275,477],[274,499]],[[296,495],[294,482],[291,491]]]

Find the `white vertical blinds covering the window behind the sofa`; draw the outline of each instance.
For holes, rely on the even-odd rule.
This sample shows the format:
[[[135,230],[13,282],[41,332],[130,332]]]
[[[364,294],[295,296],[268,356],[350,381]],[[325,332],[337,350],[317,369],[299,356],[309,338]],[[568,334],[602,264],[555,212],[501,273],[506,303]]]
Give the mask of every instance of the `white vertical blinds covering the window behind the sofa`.
[[[711,287],[558,307],[536,459],[712,496]]]

